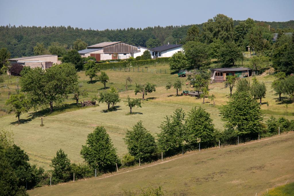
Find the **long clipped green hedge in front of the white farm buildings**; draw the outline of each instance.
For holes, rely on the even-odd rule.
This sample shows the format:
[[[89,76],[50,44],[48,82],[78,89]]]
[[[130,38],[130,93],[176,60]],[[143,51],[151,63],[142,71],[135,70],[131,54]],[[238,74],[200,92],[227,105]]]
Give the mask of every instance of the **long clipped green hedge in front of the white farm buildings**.
[[[116,62],[116,63],[100,63],[98,64],[99,69],[112,69],[119,68],[119,67],[137,67],[137,66],[145,66],[150,64],[157,64],[157,63],[168,63],[169,57],[161,57],[157,59],[147,59],[147,60],[139,60],[139,61],[131,61],[131,62]]]

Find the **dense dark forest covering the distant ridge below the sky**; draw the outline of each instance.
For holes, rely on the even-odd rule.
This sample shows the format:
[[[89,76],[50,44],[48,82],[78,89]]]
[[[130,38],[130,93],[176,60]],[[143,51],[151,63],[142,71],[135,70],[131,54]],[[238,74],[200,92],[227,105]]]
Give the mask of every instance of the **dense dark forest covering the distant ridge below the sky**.
[[[208,22],[213,19],[208,19]],[[200,32],[207,23],[197,24]],[[244,21],[233,21],[234,28]],[[293,32],[294,21],[287,22],[265,22],[254,21],[256,24],[264,26],[275,33],[277,29],[283,29],[284,32]],[[103,41],[125,41],[130,44],[140,46],[158,46],[159,44],[184,44],[187,37],[188,29],[193,25],[182,26],[154,26],[144,29],[105,29],[102,31],[93,29],[79,29],[71,26],[0,26],[0,48],[7,48],[11,57],[22,57],[34,55],[34,46],[37,43],[43,43],[46,48],[55,42],[66,49],[69,49],[74,41],[81,39],[87,45],[97,44]],[[232,29],[233,31],[233,29]],[[204,34],[203,34],[204,35]],[[191,37],[190,37],[191,38]],[[207,39],[207,37],[206,37]],[[209,42],[209,41],[208,41]]]

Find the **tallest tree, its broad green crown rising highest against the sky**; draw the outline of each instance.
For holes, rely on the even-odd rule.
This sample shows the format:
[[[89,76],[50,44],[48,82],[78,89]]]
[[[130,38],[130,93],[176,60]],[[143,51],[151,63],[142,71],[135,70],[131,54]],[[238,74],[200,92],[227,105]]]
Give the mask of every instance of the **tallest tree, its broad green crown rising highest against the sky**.
[[[202,29],[206,43],[211,43],[213,38],[224,42],[233,40],[233,19],[223,14],[217,14],[213,19],[208,19]]]

